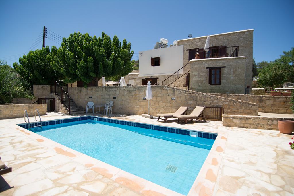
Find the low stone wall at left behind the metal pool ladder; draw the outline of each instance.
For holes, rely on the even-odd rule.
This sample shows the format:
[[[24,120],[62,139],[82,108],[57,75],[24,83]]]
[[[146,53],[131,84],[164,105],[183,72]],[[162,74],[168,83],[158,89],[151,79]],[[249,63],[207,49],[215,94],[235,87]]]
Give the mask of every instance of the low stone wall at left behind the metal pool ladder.
[[[29,116],[34,116],[35,109],[39,110],[40,115],[46,115],[46,103],[0,105],[0,119],[24,117],[24,110],[27,111]]]

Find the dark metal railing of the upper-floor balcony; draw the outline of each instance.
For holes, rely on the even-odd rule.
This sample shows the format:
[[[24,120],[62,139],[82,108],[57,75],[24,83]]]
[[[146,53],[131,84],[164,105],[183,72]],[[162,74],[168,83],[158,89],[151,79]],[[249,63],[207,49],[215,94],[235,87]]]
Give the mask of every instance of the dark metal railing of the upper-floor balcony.
[[[238,56],[239,46],[220,46],[216,48],[204,48],[198,49],[200,58],[220,58],[220,57],[232,57]]]

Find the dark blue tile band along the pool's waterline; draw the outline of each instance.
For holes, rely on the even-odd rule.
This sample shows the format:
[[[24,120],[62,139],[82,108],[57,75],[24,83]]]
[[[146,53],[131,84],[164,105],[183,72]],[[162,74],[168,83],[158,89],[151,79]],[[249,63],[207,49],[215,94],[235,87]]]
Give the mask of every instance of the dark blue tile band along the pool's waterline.
[[[192,132],[197,132],[197,137],[207,138],[207,139],[212,139],[212,140],[215,140],[218,135],[216,133],[206,133],[206,132],[201,132],[201,131],[196,131],[196,130],[186,130],[186,129],[172,128],[172,127],[165,127],[165,126],[160,126],[160,125],[150,125],[150,124],[145,124],[145,123],[135,123],[135,122],[126,121],[126,120],[117,120],[117,119],[103,118],[103,117],[91,116],[91,115],[82,116],[82,117],[74,117],[74,118],[66,118],[66,119],[60,119],[60,120],[44,121],[44,122],[42,122],[42,126],[70,123],[70,122],[76,122],[76,121],[81,121],[81,120],[94,120],[94,118],[97,118],[97,121],[102,121],[102,122],[107,122],[107,123],[129,125],[129,126],[134,126],[134,127],[158,130],[158,131],[163,131],[163,132],[168,132],[168,133],[176,133],[176,134],[181,134],[181,135],[190,135],[190,133],[192,131]],[[25,129],[29,128],[28,123],[22,123],[22,124],[17,124],[17,125],[19,125],[22,128],[25,128]],[[40,122],[31,123],[31,127],[38,126],[38,125],[40,125]]]

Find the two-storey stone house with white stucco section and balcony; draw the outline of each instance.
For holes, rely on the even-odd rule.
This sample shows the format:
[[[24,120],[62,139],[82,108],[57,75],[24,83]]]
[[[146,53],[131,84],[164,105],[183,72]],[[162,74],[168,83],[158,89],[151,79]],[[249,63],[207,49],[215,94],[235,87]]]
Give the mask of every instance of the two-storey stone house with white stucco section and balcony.
[[[139,52],[139,70],[125,76],[131,85],[163,84],[205,93],[251,92],[253,29],[181,39],[176,46]],[[195,54],[199,53],[199,59]]]

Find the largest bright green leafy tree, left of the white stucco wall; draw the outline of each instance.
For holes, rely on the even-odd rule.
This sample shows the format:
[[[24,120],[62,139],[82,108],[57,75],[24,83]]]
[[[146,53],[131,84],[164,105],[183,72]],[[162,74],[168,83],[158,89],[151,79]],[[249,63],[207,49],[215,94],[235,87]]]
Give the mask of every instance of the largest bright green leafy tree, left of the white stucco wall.
[[[121,45],[117,36],[111,40],[104,32],[98,38],[75,32],[63,39],[51,66],[61,71],[66,83],[89,83],[94,78],[120,78],[130,73],[133,53],[126,39]]]

